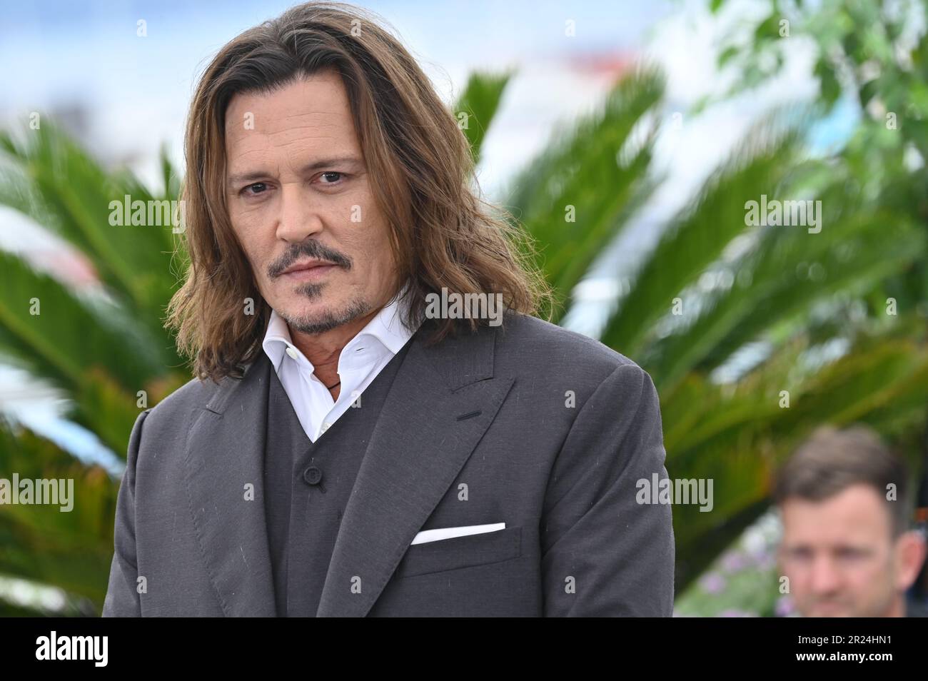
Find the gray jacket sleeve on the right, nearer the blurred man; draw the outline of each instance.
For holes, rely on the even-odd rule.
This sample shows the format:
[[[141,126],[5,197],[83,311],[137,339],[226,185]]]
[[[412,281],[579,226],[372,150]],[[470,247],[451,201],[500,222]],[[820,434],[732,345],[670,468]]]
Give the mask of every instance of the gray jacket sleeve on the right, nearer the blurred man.
[[[541,520],[546,617],[669,617],[674,608],[671,507],[638,503],[667,477],[651,377],[616,367],[589,397],[555,460]]]

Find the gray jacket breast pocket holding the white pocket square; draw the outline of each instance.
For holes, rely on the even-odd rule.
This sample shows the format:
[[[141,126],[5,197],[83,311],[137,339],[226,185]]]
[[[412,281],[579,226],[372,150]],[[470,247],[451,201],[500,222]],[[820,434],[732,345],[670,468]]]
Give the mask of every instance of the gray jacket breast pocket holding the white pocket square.
[[[522,556],[522,527],[415,544],[396,568],[399,578],[487,565]]]

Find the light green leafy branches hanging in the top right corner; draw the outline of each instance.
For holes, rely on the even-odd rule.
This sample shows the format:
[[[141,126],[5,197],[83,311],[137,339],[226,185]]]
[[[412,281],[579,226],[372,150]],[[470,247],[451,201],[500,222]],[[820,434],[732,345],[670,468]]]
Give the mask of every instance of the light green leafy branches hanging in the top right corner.
[[[837,105],[857,112],[850,139],[834,149],[829,173],[840,173],[861,207],[891,208],[923,232],[928,220],[928,34],[925,0],[819,0],[760,3],[766,19],[745,42],[732,29],[720,68],[741,74],[727,96],[781,73],[786,56],[811,48],[818,79],[816,104],[824,117]],[[722,6],[718,2],[715,5]],[[747,19],[743,19],[747,20]],[[780,22],[789,35],[780,36]],[[900,307],[928,304],[928,262],[913,260],[887,277],[882,292]]]

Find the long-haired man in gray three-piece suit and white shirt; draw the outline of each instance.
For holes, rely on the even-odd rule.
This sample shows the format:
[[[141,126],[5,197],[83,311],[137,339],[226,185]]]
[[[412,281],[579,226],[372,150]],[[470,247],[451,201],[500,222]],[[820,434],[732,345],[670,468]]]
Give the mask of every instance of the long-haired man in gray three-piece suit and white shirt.
[[[651,378],[535,316],[533,257],[374,16],[225,45],[186,153],[194,378],[135,422],[104,615],[671,614]]]

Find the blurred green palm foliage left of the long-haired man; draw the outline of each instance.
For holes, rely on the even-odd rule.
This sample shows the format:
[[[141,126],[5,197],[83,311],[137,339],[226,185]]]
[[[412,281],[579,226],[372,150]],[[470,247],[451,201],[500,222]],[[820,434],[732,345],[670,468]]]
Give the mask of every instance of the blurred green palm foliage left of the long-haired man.
[[[190,377],[161,322],[176,286],[172,225],[110,225],[110,202],[176,200],[176,174],[162,152],[165,186],[153,193],[132,173],[102,168],[47,119],[39,130],[22,133],[0,132],[0,205],[80,252],[99,284],[75,289],[0,251],[0,355],[63,391],[67,416],[124,457],[138,413]],[[10,479],[14,471],[20,479],[71,479],[80,501],[69,512],[0,507],[0,575],[63,590],[55,612],[98,612],[119,481],[31,430],[3,423],[0,476]],[[19,612],[0,604],[0,611]]]

